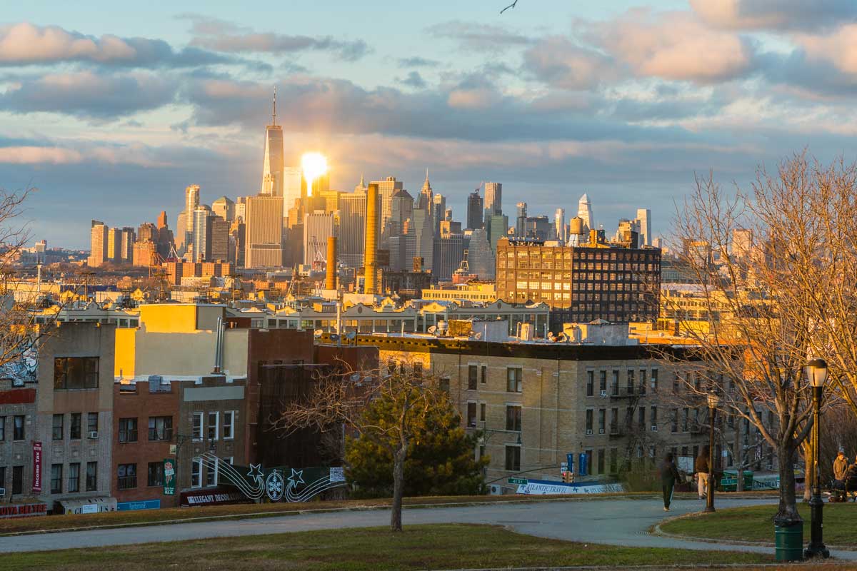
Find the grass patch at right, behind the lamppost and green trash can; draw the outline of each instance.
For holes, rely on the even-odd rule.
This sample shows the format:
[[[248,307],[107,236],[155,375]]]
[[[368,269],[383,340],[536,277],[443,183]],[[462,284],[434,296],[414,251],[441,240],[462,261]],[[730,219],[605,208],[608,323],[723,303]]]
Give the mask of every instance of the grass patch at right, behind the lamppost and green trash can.
[[[804,518],[804,539],[809,540],[810,509],[798,504]],[[718,509],[714,514],[698,514],[669,521],[662,531],[694,538],[738,539],[740,541],[774,542],[776,506]],[[824,503],[824,543],[857,545],[857,505]]]

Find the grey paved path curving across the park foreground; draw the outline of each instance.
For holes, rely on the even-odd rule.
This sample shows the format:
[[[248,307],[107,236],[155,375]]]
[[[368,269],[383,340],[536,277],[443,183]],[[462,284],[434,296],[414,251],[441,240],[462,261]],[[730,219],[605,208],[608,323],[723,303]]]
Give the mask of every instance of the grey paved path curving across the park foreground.
[[[774,498],[718,498],[717,505],[734,508],[776,503]],[[698,500],[675,500],[669,515],[699,511]],[[458,508],[405,509],[405,526],[423,523],[482,523],[508,526],[516,532],[543,538],[614,544],[632,547],[681,547],[694,550],[744,550],[771,553],[771,547],[683,541],[653,536],[650,526],[668,515],[656,499],[604,499],[577,502],[485,503]],[[143,544],[157,541],[303,532],[319,529],[386,526],[388,509],[300,514],[247,520],[216,520],[169,526],[141,526],[81,532],[45,533],[0,538],[0,552],[59,550]],[[771,530],[773,531],[773,530]],[[836,552],[835,556],[857,560],[857,551]]]

